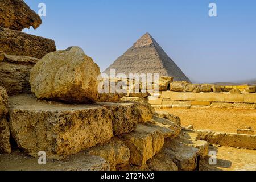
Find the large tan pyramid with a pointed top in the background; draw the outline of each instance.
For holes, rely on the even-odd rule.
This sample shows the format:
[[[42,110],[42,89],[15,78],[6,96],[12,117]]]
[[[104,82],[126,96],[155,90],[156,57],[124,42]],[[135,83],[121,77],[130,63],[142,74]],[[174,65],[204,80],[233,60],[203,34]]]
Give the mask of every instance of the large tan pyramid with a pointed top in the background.
[[[115,74],[125,73],[127,76],[129,73],[159,73],[159,76],[174,77],[175,81],[191,82],[148,33],[118,57],[104,73],[110,75],[110,69],[115,69]]]

